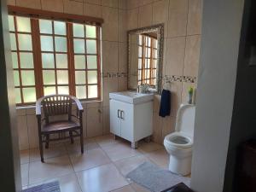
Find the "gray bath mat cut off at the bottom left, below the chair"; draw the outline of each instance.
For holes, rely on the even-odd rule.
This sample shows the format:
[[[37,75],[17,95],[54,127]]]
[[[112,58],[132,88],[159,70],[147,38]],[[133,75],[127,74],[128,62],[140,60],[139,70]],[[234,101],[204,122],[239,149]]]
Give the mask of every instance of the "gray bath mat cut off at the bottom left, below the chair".
[[[24,189],[22,192],[61,192],[58,181],[51,183],[44,183],[29,189]]]

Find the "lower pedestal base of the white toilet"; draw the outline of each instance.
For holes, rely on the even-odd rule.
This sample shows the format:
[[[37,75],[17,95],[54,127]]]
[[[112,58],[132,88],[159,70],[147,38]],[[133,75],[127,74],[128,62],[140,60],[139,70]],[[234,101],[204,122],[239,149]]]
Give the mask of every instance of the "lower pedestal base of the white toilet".
[[[191,172],[191,160],[192,155],[180,159],[170,155],[169,171],[183,176],[189,175]]]

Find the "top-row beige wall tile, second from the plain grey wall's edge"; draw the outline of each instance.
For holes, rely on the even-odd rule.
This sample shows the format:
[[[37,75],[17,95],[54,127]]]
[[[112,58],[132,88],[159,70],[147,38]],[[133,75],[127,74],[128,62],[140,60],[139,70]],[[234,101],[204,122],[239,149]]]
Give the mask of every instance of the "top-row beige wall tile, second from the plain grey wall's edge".
[[[168,38],[185,36],[188,15],[188,0],[170,0]]]

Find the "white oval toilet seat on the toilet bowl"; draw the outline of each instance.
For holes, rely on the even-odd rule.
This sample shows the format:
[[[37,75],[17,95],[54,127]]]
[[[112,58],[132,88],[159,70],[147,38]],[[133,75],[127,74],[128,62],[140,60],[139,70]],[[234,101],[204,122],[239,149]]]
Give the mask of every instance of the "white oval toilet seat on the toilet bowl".
[[[165,143],[176,148],[192,148],[193,141],[182,132],[174,132],[165,138]]]

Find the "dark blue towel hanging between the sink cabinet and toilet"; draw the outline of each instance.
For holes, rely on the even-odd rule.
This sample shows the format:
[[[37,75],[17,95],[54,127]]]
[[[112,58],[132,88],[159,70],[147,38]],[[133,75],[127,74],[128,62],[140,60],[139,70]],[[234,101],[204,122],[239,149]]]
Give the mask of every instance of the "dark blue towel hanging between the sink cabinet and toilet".
[[[171,113],[171,91],[162,90],[159,116],[166,117],[170,116]]]

